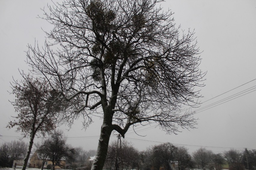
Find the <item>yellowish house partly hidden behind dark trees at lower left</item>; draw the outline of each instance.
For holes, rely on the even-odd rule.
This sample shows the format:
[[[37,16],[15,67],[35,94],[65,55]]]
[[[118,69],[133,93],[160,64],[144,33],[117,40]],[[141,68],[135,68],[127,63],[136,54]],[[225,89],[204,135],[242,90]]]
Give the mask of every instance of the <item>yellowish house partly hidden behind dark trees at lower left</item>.
[[[52,164],[53,164],[52,161],[51,161],[49,158],[47,158],[47,159],[45,160],[45,163],[44,163],[44,169],[47,168],[47,165],[49,166],[49,165],[52,165]],[[29,168],[41,168],[42,165],[43,165],[43,160],[40,159],[40,158],[38,157],[38,153],[35,152],[35,153],[32,155],[31,159],[30,159]],[[66,166],[66,160],[60,160],[59,163],[58,163],[58,165],[59,165],[59,166],[57,166],[57,165],[55,166],[55,169],[60,169],[60,168],[62,168],[62,167],[64,167],[64,166]]]

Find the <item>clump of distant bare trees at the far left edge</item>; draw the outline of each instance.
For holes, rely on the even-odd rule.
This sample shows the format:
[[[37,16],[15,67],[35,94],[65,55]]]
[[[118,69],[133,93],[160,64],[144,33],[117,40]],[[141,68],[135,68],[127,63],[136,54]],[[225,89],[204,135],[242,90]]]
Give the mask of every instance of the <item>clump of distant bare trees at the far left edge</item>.
[[[14,160],[24,159],[28,145],[23,141],[5,142],[0,146],[0,167],[12,167]]]

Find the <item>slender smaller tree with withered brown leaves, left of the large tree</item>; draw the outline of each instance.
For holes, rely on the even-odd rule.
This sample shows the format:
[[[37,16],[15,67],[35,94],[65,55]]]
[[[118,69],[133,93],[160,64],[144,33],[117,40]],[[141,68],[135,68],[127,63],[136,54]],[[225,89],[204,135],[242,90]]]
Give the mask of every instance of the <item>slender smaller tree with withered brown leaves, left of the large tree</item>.
[[[38,78],[24,75],[24,73],[21,75],[23,76],[22,81],[14,81],[11,84],[12,93],[16,98],[11,103],[18,115],[9,122],[7,127],[17,127],[24,137],[30,137],[29,148],[22,168],[25,170],[35,136],[44,136],[55,129],[54,114],[59,111],[59,107],[54,101],[54,92],[46,81],[40,81]]]

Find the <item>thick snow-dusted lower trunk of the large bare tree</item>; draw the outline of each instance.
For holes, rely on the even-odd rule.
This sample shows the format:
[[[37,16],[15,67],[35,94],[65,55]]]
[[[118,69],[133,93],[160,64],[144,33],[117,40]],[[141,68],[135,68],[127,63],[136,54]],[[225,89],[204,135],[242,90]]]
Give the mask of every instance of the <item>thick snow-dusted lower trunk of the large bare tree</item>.
[[[91,170],[102,170],[108,152],[108,142],[112,132],[111,125],[108,125],[106,121],[103,121],[101,126],[101,133],[98,143],[98,149],[96,153],[96,157],[93,160],[93,165]]]

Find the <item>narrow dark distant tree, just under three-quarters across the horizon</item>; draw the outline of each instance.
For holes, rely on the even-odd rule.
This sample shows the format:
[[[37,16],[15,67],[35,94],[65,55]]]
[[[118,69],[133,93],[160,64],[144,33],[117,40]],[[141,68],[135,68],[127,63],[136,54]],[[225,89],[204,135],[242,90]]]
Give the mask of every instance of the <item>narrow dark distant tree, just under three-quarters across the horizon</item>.
[[[178,161],[178,170],[184,170],[186,168],[193,168],[194,162],[188,149],[184,146],[178,146],[175,152],[175,160]]]

